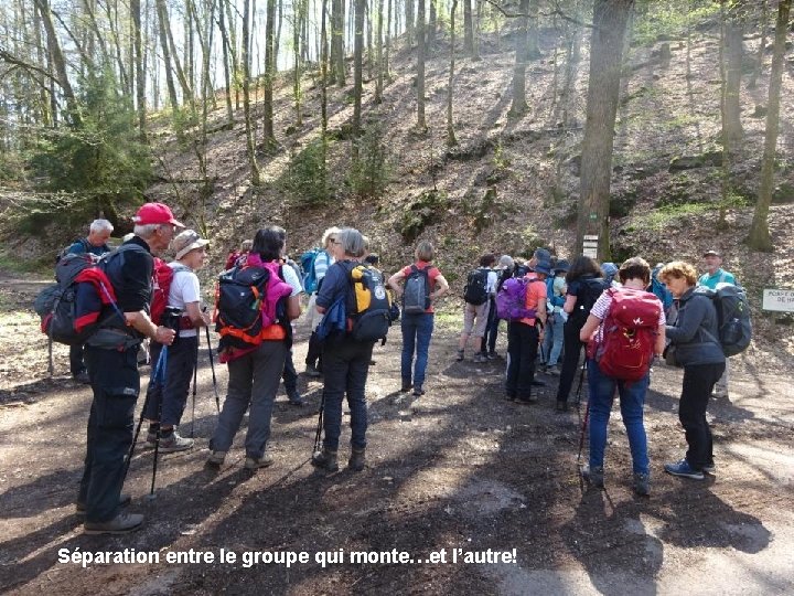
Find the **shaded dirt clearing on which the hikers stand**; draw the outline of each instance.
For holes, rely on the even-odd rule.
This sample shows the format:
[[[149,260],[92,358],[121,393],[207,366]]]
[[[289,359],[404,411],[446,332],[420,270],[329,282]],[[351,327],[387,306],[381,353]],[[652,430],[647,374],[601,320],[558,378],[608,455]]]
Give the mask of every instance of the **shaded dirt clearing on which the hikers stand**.
[[[204,468],[215,424],[206,350],[195,411],[197,447],[163,456],[148,500],[151,450],[140,449],[126,490],[146,526],[128,536],[86,536],[72,501],[82,471],[90,391],[44,379],[44,349],[19,311],[3,324],[0,391],[0,592],[41,594],[461,593],[783,594],[794,590],[794,405],[790,371],[736,365],[730,401],[709,407],[718,476],[693,482],[661,472],[685,447],[677,423],[680,372],[658,365],[646,405],[654,483],[635,498],[625,433],[613,412],[608,490],[579,481],[580,416],[552,411],[554,377],[534,406],[502,398],[504,361],[455,363],[451,316],[439,317],[428,394],[418,408],[396,393],[400,334],[376,348],[367,385],[367,469],[325,476],[308,464],[322,385],[301,375],[311,406],[280,393],[272,421],[276,464],[243,467],[242,434],[217,472]],[[28,322],[26,322],[28,321]],[[8,322],[8,321],[7,321]],[[452,326],[452,327],[451,327]],[[294,360],[302,370],[305,329]],[[501,342],[504,338],[501,338]],[[214,341],[214,340],[213,340]],[[503,351],[504,345],[500,343]],[[29,354],[26,368],[17,363]],[[9,364],[9,362],[15,364]],[[58,371],[66,370],[60,354]],[[217,368],[219,391],[226,371]],[[148,369],[142,370],[148,375]],[[142,397],[139,400],[139,407]],[[346,423],[345,417],[345,423]],[[191,409],[183,430],[190,432]],[[346,460],[343,428],[340,456]],[[142,443],[141,443],[142,446]],[[158,553],[157,564],[58,562],[58,551]],[[213,563],[165,562],[168,553],[212,552]],[[219,563],[221,549],[307,552],[287,568]],[[453,550],[458,563],[451,563]],[[505,551],[509,563],[460,561]],[[344,556],[325,568],[318,552]],[[404,551],[414,563],[352,564],[354,551]],[[515,550],[515,551],[514,551]],[[419,563],[443,551],[447,563]],[[376,556],[376,555],[369,555]],[[440,556],[440,555],[433,555]],[[98,586],[101,586],[99,588]]]

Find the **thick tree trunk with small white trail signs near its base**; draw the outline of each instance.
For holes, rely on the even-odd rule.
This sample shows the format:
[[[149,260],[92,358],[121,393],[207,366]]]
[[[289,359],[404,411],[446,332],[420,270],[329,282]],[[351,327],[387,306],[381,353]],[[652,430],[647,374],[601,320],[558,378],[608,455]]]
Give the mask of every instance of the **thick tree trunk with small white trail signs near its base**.
[[[581,194],[575,254],[586,235],[597,235],[598,258],[609,260],[609,200],[623,36],[634,0],[594,0],[590,42],[587,123],[582,142]]]

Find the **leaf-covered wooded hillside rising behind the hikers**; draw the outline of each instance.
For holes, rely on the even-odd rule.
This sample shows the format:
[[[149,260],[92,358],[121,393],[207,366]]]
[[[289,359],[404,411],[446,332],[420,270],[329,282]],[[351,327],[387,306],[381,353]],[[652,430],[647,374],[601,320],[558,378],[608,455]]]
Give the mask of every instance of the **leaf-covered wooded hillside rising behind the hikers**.
[[[716,23],[686,39],[632,45],[627,53],[613,158],[613,259],[640,254],[650,262],[688,259],[700,264],[707,247],[725,254],[726,267],[750,289],[760,304],[764,287],[792,287],[794,243],[787,231],[794,223],[794,109],[782,103],[776,172],[777,204],[770,222],[775,244],[771,255],[752,253],[742,244],[747,236],[758,192],[763,148],[763,106],[769,75],[766,67],[755,89],[742,86],[742,125],[745,142],[734,170],[734,189],[728,207],[728,227],[716,230],[722,169],[719,115],[719,32]],[[554,247],[570,257],[573,217],[579,194],[579,147],[583,136],[584,93],[588,81],[587,44],[578,70],[576,94],[570,102],[572,125],[561,124],[556,84],[561,77],[561,49],[554,30],[541,34],[543,56],[527,68],[528,113],[511,118],[511,81],[514,52],[503,38],[483,44],[482,60],[458,61],[454,78],[454,124],[459,146],[446,147],[446,102],[448,79],[447,40],[439,42],[427,65],[426,135],[416,131],[416,52],[401,50],[393,60],[393,82],[384,102],[373,104],[374,82],[365,81],[364,119],[379,123],[391,153],[391,183],[379,200],[360,200],[344,189],[341,172],[350,159],[350,141],[331,145],[331,168],[335,172],[336,199],[328,205],[296,205],[277,183],[290,166],[291,156],[318,137],[320,89],[304,84],[304,126],[292,130],[294,109],[291,83],[279,79],[276,129],[280,150],[260,156],[265,184],[253,189],[245,153],[242,110],[233,130],[215,132],[210,140],[208,174],[215,179],[204,219],[216,248],[213,258],[221,265],[227,249],[250,237],[268,222],[285,225],[292,252],[314,245],[322,230],[332,224],[360,227],[373,238],[374,249],[387,270],[406,262],[412,253],[410,234],[403,235],[417,215],[427,225],[418,237],[436,242],[439,265],[455,287],[460,277],[484,252],[526,254],[536,245]],[[745,40],[748,55],[759,43]],[[672,57],[659,55],[669,45]],[[556,62],[555,62],[556,61]],[[557,64],[557,66],[556,66]],[[794,52],[788,50],[783,97],[794,91]],[[557,78],[555,71],[557,70]],[[747,78],[747,77],[745,77]],[[350,88],[329,89],[329,129],[344,135],[352,116]],[[223,109],[213,113],[219,121]],[[761,115],[761,116],[759,116]],[[168,163],[165,179],[198,179],[193,153],[182,151],[175,139],[162,137]],[[433,188],[437,193],[430,193]],[[196,222],[197,187],[161,182],[148,196],[174,203],[179,189],[182,221]],[[757,310],[760,315],[760,310]],[[777,321],[775,323],[774,321]],[[794,353],[791,318],[757,316],[764,352]],[[764,356],[765,358],[765,356]]]

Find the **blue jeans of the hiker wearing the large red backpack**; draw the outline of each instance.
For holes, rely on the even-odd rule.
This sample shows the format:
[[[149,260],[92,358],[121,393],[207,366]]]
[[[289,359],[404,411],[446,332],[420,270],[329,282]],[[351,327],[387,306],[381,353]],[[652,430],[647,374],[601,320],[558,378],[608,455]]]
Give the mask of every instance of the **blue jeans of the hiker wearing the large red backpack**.
[[[629,436],[629,447],[632,453],[632,468],[635,472],[648,472],[647,439],[643,425],[643,404],[651,376],[646,374],[640,381],[627,383],[607,376],[598,364],[588,361],[588,385],[590,387],[590,467],[603,466],[604,447],[607,446],[607,426],[614,390],[621,402],[623,426]]]

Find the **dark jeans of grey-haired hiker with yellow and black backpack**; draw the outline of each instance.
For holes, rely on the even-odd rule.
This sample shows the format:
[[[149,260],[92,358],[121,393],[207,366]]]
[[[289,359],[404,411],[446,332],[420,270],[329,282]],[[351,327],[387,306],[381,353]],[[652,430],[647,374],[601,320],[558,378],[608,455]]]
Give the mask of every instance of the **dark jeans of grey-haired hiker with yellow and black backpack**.
[[[366,379],[374,343],[347,337],[329,339],[323,347],[323,447],[335,451],[342,434],[342,400],[351,408],[351,445],[366,447]]]

